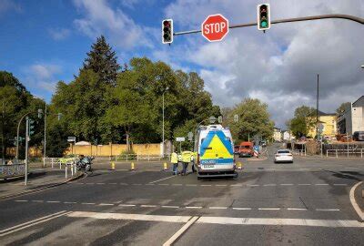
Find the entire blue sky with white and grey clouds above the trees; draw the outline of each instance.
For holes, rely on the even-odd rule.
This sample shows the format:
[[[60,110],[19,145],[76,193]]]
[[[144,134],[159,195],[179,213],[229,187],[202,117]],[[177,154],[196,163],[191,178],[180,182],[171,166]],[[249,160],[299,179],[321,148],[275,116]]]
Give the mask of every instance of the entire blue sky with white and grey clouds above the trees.
[[[362,0],[267,0],[271,19],[346,14],[364,18]],[[294,109],[330,113],[364,95],[364,26],[327,19],[231,29],[221,42],[200,34],[161,42],[161,22],[176,32],[199,29],[207,15],[230,25],[255,22],[256,0],[0,0],[0,70],[12,72],[36,97],[50,101],[56,83],[69,83],[97,36],[106,36],[120,64],[147,56],[174,69],[196,71],[215,104],[232,107],[246,97],[268,104],[279,128]]]

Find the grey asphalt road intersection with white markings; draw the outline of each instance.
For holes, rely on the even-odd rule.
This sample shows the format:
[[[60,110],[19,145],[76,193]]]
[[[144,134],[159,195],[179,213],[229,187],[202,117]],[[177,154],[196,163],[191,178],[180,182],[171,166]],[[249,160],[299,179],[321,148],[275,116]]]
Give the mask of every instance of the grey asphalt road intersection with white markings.
[[[0,201],[1,245],[359,245],[349,201],[362,160],[240,159],[237,180],[97,169]]]

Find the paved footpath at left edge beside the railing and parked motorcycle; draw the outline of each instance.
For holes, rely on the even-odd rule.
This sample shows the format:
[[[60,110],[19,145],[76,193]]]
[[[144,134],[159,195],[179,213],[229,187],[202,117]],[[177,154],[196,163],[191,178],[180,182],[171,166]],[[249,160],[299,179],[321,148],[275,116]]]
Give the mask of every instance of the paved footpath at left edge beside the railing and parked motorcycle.
[[[19,195],[56,187],[66,182],[82,177],[83,172],[77,172],[73,177],[65,176],[65,169],[42,169],[30,167],[28,182],[25,186],[24,177],[0,179],[0,200],[14,198]]]

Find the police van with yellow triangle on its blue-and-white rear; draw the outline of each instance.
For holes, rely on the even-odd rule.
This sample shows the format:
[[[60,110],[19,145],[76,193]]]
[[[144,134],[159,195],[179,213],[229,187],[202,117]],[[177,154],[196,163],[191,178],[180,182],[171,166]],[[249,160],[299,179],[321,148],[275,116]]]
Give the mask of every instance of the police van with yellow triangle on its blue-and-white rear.
[[[197,179],[237,178],[231,132],[221,125],[201,126],[195,139],[194,166]]]

